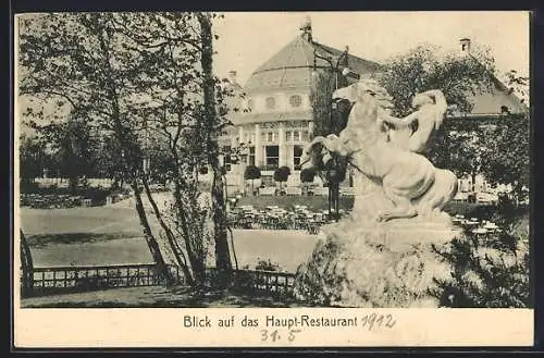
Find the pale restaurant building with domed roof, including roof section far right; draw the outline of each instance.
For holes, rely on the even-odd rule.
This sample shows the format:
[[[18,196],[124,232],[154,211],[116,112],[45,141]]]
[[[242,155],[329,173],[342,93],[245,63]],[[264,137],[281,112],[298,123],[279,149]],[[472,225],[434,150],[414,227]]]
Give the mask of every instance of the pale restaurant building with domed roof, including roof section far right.
[[[348,69],[359,78],[375,77],[382,71],[379,63],[350,54],[348,47],[338,50],[314,41],[309,21],[299,30],[298,36],[251,74],[245,86],[236,82],[234,71],[230,73],[235,90],[244,94],[234,106],[245,109],[232,118],[234,125],[225,129],[221,139],[227,184],[234,187],[232,189],[246,186],[244,171],[247,165],[261,169],[259,186],[275,186],[273,173],[280,166],[290,169],[287,186],[300,186],[302,150],[313,131],[310,86],[316,69],[341,73]],[[461,39],[459,50],[460,55],[470,55],[470,39]],[[493,78],[496,88],[475,95],[472,113],[452,115],[497,116],[505,111],[518,113],[527,110],[511,90]],[[233,148],[244,148],[236,163],[231,162],[228,156]],[[316,182],[321,184],[319,178]]]

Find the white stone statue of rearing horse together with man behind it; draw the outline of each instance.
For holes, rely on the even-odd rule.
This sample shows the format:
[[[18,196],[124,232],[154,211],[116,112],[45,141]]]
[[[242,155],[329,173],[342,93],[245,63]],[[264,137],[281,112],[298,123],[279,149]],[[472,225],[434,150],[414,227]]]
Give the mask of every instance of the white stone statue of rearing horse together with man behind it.
[[[406,118],[390,114],[385,90],[372,81],[341,88],[333,100],[353,104],[347,125],[338,136],[316,137],[307,153],[320,150],[324,163],[334,155],[347,158],[357,175],[370,180],[374,192],[387,202],[369,211],[369,202],[357,202],[361,200],[357,197],[353,215],[364,210],[366,215],[372,212],[373,220],[384,222],[440,214],[457,193],[457,177],[448,170],[435,168],[423,152],[447,109],[442,91],[416,95],[415,112]]]

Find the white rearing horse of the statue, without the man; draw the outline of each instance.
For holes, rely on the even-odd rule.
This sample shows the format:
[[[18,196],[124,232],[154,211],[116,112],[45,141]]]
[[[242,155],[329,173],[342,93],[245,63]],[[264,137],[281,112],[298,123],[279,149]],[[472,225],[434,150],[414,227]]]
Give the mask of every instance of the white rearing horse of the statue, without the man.
[[[412,113],[410,119],[396,119],[379,107],[372,92],[372,85],[362,82],[336,91],[333,97],[354,103],[347,125],[339,136],[314,138],[307,153],[319,145],[323,148],[323,161],[326,161],[332,152],[345,156],[357,171],[381,186],[383,195],[392,206],[376,213],[378,221],[441,212],[444,205],[457,193],[457,177],[450,171],[434,168],[424,156],[416,152],[421,150],[421,137],[415,136],[418,140],[415,146],[417,150],[411,151],[409,145],[407,147],[392,140],[387,128],[408,125],[417,118],[430,115],[431,111],[435,116],[444,115],[445,108],[442,113],[437,110],[437,106],[442,108],[443,103],[422,108],[420,111],[426,112],[417,115]],[[438,122],[438,119],[436,121]]]

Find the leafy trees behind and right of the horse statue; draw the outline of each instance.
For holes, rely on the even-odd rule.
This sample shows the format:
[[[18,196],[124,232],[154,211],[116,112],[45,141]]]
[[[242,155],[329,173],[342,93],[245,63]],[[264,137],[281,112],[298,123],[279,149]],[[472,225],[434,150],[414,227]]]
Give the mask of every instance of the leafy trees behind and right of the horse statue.
[[[394,114],[407,115],[418,92],[441,89],[448,102],[448,115],[469,114],[474,96],[494,90],[494,59],[489,50],[467,55],[441,55],[440,49],[418,47],[385,64],[380,83],[393,97]],[[528,86],[516,71],[507,74],[511,88]],[[527,95],[527,88],[523,91]],[[444,121],[425,153],[438,168],[458,176],[477,174],[492,183],[515,184],[517,192],[529,185],[529,119],[527,115],[500,115],[485,123],[478,119]]]

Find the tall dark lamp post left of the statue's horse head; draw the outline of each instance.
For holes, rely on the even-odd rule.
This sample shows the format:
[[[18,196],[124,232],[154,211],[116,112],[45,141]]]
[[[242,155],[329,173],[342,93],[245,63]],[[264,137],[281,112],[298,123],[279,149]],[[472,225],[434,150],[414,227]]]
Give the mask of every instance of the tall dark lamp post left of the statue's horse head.
[[[333,59],[329,57],[323,57],[318,54],[317,50],[313,50],[313,71],[317,71],[317,61],[318,59],[326,61],[326,63],[330,65],[330,71],[334,75],[334,90],[338,89],[341,87],[339,79],[343,77],[347,77],[348,75],[355,75],[356,78],[359,76],[351,72],[347,66],[344,67],[342,73],[338,71],[339,70],[339,64],[343,59],[347,61],[347,48],[346,51],[344,51],[337,59],[336,62],[333,62]],[[331,99],[331,111],[329,111],[329,121],[330,123],[333,123],[333,111],[336,110],[336,102],[332,101]],[[338,128],[334,128],[333,131],[337,131]],[[337,133],[336,133],[337,134]],[[332,207],[334,206],[334,218],[336,222],[338,221],[338,211],[339,211],[339,205],[338,205],[338,198],[339,198],[339,169],[338,169],[338,158],[337,156],[333,155],[331,161],[330,161],[330,169],[327,170],[327,182],[329,182],[329,217],[331,218],[332,215]]]

